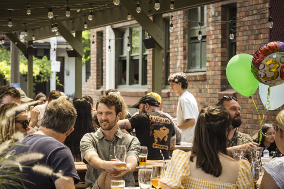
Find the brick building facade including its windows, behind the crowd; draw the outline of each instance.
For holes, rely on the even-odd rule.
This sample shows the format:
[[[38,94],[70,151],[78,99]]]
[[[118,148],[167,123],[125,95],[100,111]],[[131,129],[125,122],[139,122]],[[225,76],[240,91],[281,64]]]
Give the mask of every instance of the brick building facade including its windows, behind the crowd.
[[[276,1],[277,0],[273,2]],[[269,2],[269,0],[228,0],[210,4],[206,7],[195,8],[194,10],[172,12],[171,15],[174,16],[174,30],[171,33],[164,32],[165,40],[166,38],[169,40],[168,45],[165,45],[164,48],[162,68],[164,82],[162,89],[162,111],[176,117],[178,96],[170,90],[166,78],[169,74],[186,72],[189,80],[188,90],[195,96],[199,110],[203,106],[213,104],[223,95],[234,96],[239,100],[242,107],[241,113],[243,124],[240,127],[240,131],[252,136],[260,128],[260,117],[252,99],[240,95],[230,87],[226,78],[226,66],[234,54],[247,53],[253,55],[258,48],[268,43],[270,40],[284,41],[283,33],[275,35],[276,37],[274,38],[270,36],[271,31],[276,31],[277,28],[279,30],[279,27],[282,27],[283,24],[277,26],[279,20],[273,20],[275,23],[274,27],[269,29],[267,27],[269,17],[268,10],[249,16],[268,8],[270,4],[271,2]],[[280,6],[282,7],[282,10],[283,6],[283,4]],[[165,22],[164,31],[168,31],[171,17],[169,14],[164,14],[163,18]],[[196,28],[198,31],[199,26],[196,27],[196,23],[187,21],[193,20],[194,18],[195,21],[203,19],[203,22],[207,22],[207,24],[202,25],[202,34],[204,36],[201,41],[196,40]],[[198,20],[196,20],[196,18]],[[232,23],[221,21],[231,19],[237,19],[237,21]],[[111,25],[111,28],[114,30],[114,33],[116,33],[116,31],[120,31],[121,28],[125,30],[127,27],[131,28],[132,26],[136,26],[135,24],[137,24],[137,22],[131,20]],[[234,40],[229,39],[231,28],[234,30]],[[128,30],[126,29],[125,31],[127,32]],[[146,59],[146,72],[140,72],[139,74],[144,75],[146,84],[140,82],[142,85],[130,85],[129,80],[128,85],[120,85],[121,83],[118,81],[117,71],[116,76],[106,75],[106,56],[108,55],[106,27],[93,29],[92,36],[93,35],[95,36],[93,38],[95,48],[91,49],[91,75],[83,88],[83,95],[90,95],[96,101],[99,96],[104,94],[106,89],[106,77],[115,77],[115,87],[121,92],[124,101],[129,106],[137,103],[143,95],[151,91],[152,50],[148,50],[146,55],[145,53],[142,53]],[[116,35],[115,37],[119,38],[121,36],[122,35]],[[141,34],[140,37],[142,36],[143,35]],[[167,42],[165,44],[167,44]],[[118,46],[116,45],[116,47]],[[120,47],[124,46],[121,45]],[[116,51],[120,51],[119,48],[117,48]],[[142,55],[140,56],[139,64],[142,64],[143,68],[143,62],[141,63],[141,61],[144,61],[144,59]],[[133,56],[130,54],[130,63],[133,61],[131,57]],[[121,67],[119,64],[120,60],[124,63],[126,62],[127,65],[127,60],[124,61],[121,56],[116,55],[116,70]],[[195,64],[195,62],[193,63],[192,60],[195,60],[198,64]],[[140,69],[142,68],[140,67]],[[131,75],[131,73],[129,74]],[[262,118],[265,111],[258,90],[252,95],[252,98]],[[277,110],[267,112],[264,122],[274,123],[277,113],[279,110],[283,109],[283,107],[284,106]]]

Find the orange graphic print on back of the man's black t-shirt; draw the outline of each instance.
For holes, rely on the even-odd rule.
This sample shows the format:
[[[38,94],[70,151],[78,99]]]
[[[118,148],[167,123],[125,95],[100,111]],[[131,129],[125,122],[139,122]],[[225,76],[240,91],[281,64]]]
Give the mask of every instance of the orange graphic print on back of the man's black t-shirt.
[[[168,150],[169,147],[167,145],[160,145],[159,143],[162,140],[164,140],[165,142],[167,141],[170,130],[165,126],[160,127],[160,130],[155,130],[154,126],[157,123],[170,124],[171,121],[168,118],[161,118],[159,116],[149,116],[149,120],[150,120],[150,136],[154,135],[155,138],[155,141],[153,143],[153,148]]]

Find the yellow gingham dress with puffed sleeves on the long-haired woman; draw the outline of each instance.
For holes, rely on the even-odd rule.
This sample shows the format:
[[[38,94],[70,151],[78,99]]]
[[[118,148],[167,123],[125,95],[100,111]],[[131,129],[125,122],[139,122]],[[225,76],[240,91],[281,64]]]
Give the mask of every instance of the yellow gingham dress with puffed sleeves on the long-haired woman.
[[[160,182],[173,189],[254,189],[251,168],[247,160],[239,161],[236,184],[222,183],[190,176],[188,154],[181,150],[173,152],[166,175]]]

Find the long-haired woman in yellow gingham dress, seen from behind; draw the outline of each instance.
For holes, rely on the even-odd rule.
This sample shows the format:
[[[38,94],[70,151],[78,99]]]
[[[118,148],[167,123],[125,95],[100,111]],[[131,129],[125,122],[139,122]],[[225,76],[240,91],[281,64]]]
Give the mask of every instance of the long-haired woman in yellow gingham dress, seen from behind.
[[[236,161],[227,155],[230,126],[231,117],[225,108],[202,108],[192,151],[174,151],[160,180],[164,189],[254,189],[248,161]]]

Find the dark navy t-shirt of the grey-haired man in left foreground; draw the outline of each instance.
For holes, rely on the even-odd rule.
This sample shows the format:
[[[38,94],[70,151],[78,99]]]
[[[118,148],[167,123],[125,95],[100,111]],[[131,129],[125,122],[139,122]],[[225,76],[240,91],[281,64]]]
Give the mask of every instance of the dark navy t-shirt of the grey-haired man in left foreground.
[[[64,176],[73,177],[75,184],[80,181],[70,149],[53,137],[38,134],[28,135],[12,146],[9,152],[12,153],[12,151],[14,151],[15,156],[28,153],[41,153],[44,155],[42,159],[36,162],[24,163],[28,168],[23,168],[21,175],[26,180],[34,183],[23,182],[27,189],[55,189],[54,182],[58,177],[34,172],[32,167],[36,164],[45,165],[53,169],[55,173],[62,172]],[[19,180],[15,180],[15,182],[21,184]],[[9,188],[13,188],[13,186],[9,186]]]

